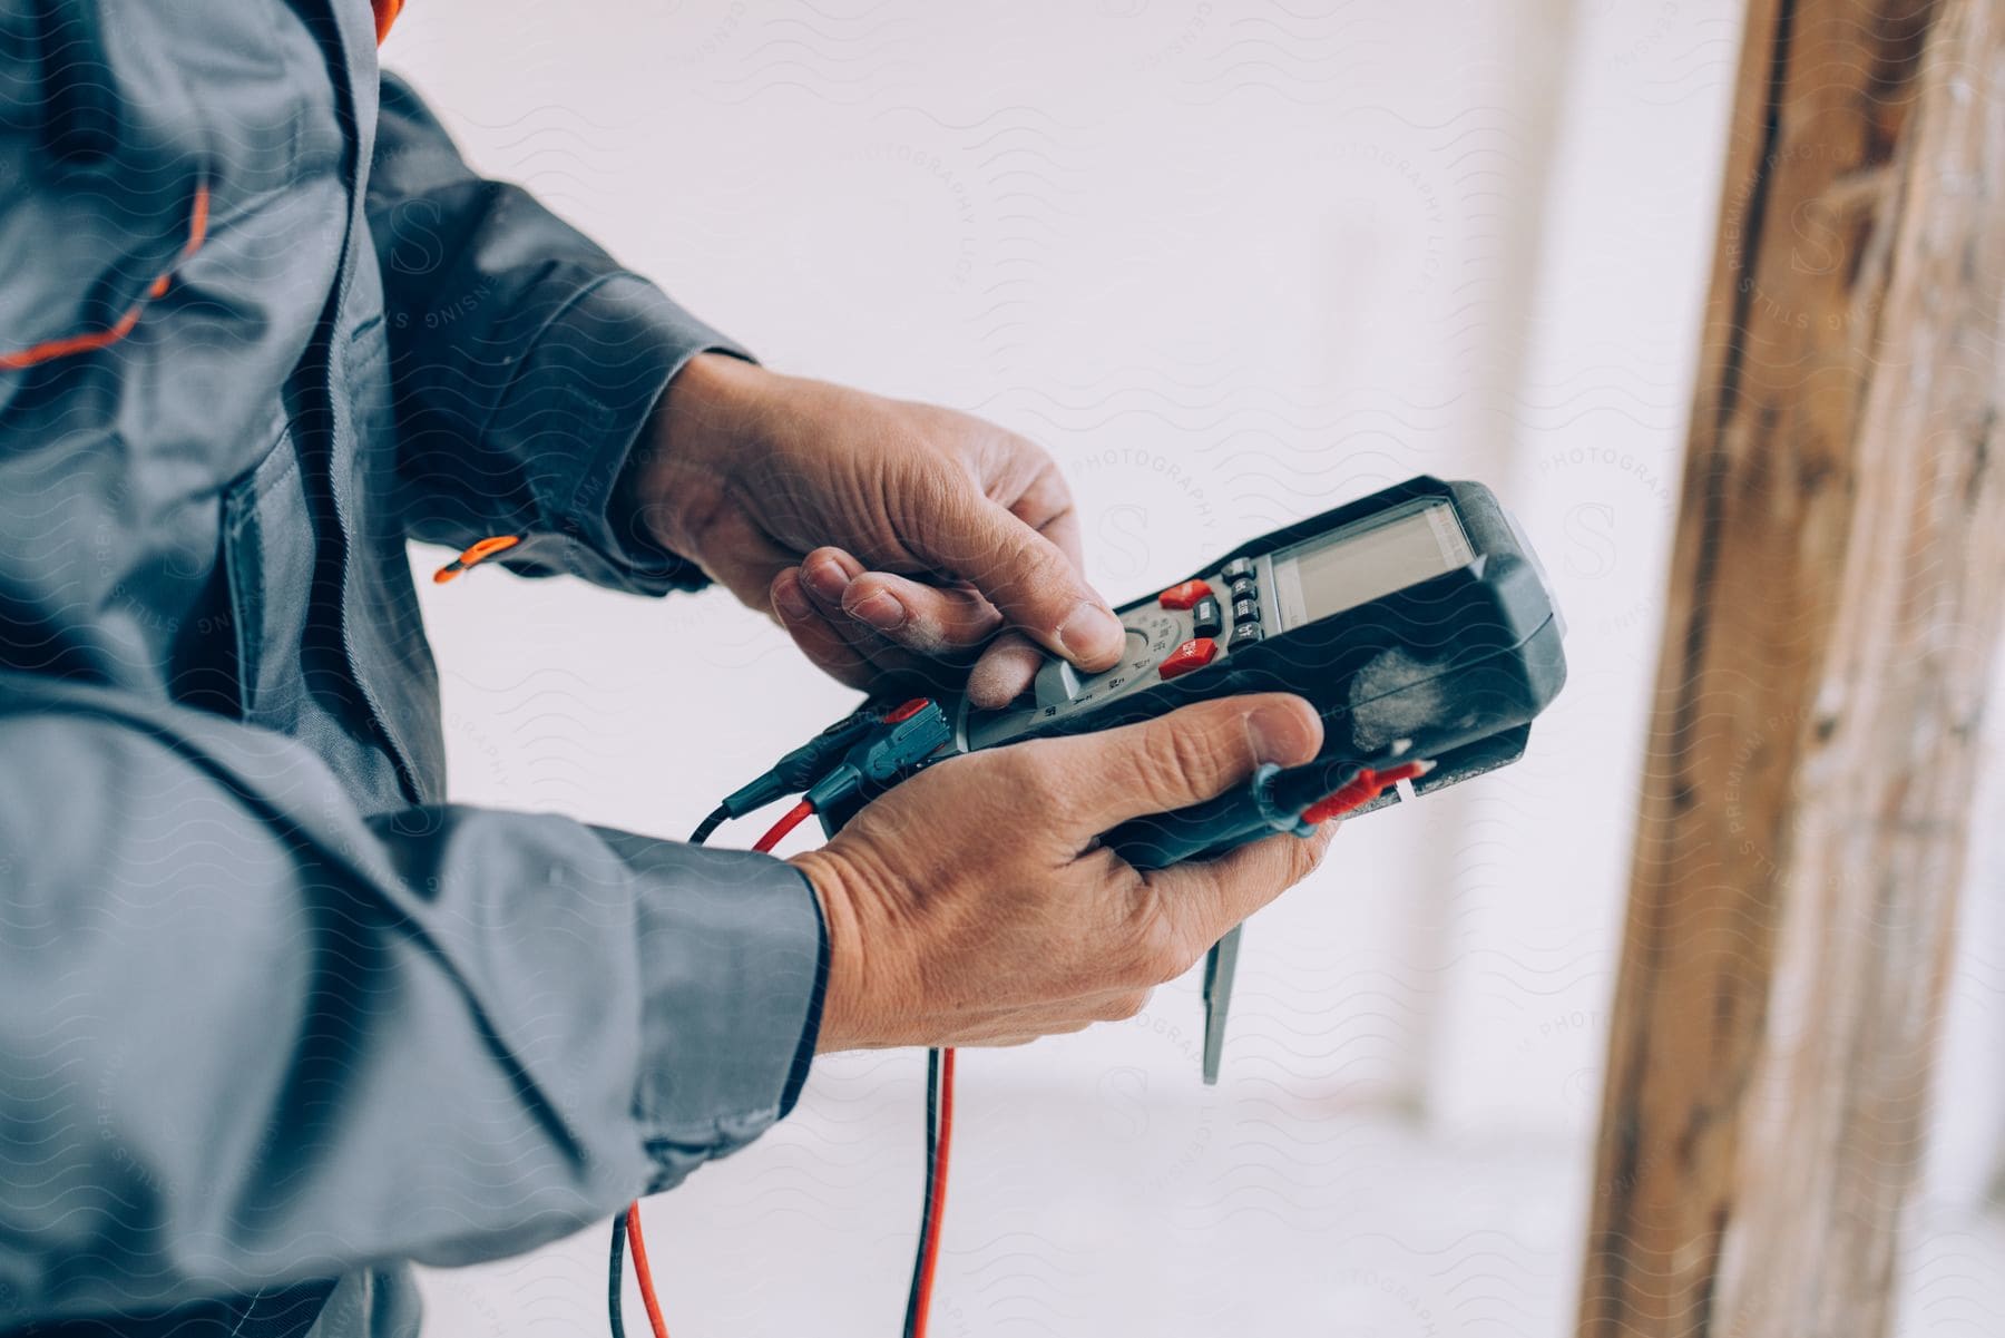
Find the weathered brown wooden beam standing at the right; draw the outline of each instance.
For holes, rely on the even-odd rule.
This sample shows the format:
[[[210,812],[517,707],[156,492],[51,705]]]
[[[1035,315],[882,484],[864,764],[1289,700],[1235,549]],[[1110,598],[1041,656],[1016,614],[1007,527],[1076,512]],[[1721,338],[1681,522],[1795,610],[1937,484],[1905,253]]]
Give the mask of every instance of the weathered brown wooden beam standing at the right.
[[[2005,0],[1754,0],[1580,1332],[1889,1332],[2005,606]]]

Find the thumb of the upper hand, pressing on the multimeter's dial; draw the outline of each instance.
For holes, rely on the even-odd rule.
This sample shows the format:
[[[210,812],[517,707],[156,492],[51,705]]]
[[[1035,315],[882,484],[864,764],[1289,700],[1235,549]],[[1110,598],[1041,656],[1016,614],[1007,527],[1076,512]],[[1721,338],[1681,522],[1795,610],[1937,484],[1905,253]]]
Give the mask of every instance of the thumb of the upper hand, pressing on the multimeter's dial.
[[[1121,662],[1127,632],[1073,560],[1009,508],[974,487],[958,491],[906,546],[974,586],[1002,618],[1083,670]]]

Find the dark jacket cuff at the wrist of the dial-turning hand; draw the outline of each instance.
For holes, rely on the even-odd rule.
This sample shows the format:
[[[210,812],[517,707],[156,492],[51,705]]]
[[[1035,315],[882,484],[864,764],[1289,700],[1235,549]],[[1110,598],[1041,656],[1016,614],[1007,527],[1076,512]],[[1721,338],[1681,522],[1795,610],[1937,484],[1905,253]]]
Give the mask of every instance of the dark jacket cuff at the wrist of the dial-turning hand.
[[[567,471],[549,479],[543,526],[551,538],[531,536],[507,566],[569,572],[636,594],[708,584],[702,568],[648,538],[620,483],[668,383],[712,351],[752,357],[628,271],[585,285],[549,319],[485,435],[527,443],[551,431],[589,445],[565,455]]]

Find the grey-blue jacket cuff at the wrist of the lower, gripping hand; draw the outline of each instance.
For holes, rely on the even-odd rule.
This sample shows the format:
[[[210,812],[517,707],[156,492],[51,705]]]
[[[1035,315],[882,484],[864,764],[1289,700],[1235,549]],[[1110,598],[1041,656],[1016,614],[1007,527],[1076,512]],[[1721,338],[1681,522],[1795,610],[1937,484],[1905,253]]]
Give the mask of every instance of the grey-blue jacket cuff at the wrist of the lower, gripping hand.
[[[828,935],[792,865],[599,832],[648,879],[638,899],[650,1194],[750,1143],[800,1097],[820,1031]]]

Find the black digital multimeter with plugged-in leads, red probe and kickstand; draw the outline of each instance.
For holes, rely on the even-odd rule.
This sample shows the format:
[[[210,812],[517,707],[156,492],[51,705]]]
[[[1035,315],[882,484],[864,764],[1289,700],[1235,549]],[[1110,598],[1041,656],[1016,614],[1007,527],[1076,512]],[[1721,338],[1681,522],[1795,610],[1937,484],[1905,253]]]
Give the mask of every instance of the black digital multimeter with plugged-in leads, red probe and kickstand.
[[[1482,483],[1408,479],[1115,612],[1127,650],[1107,672],[1053,658],[1002,710],[940,698],[830,726],[828,742],[850,752],[808,788],[822,826],[832,834],[890,784],[964,752],[1113,728],[1211,696],[1307,698],[1323,718],[1315,760],[1261,768],[1229,794],[1103,837],[1131,865],[1161,869],[1369,812],[1395,802],[1395,778],[1426,794],[1514,762],[1566,682],[1564,620],[1544,570]],[[752,788],[740,798],[750,804]],[[1205,1081],[1217,1079],[1237,941],[1235,929],[1207,959]]]

